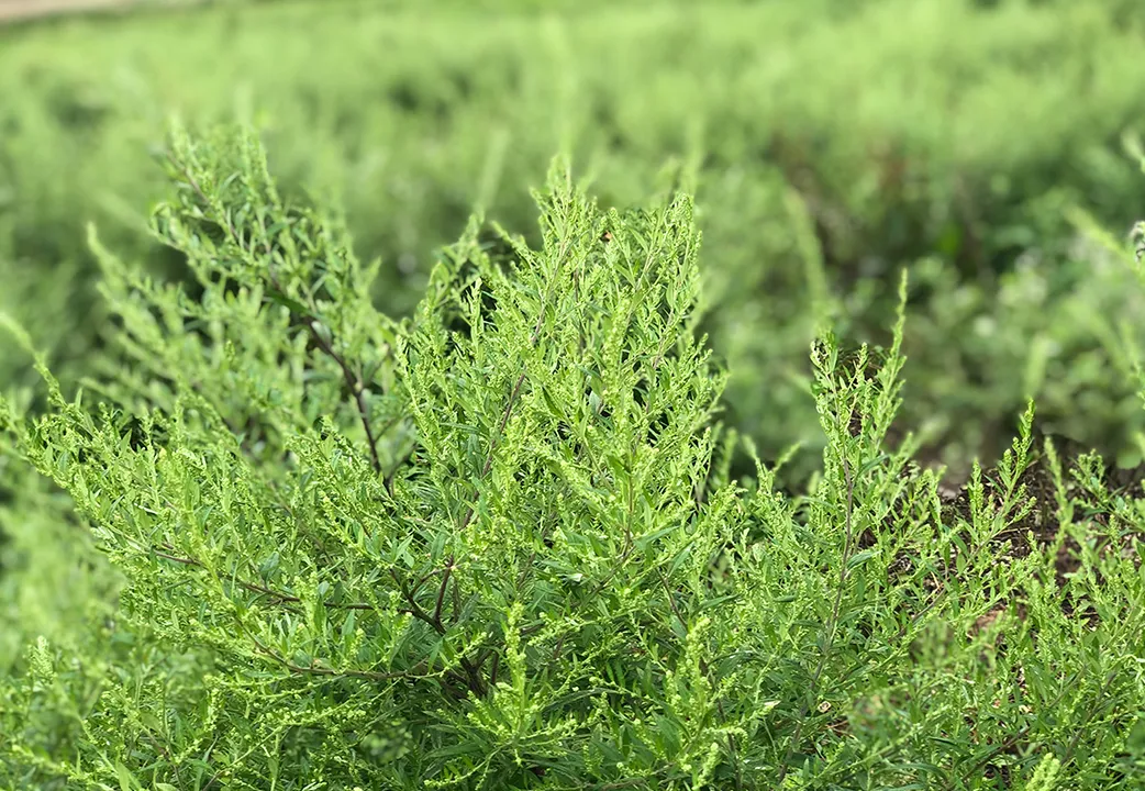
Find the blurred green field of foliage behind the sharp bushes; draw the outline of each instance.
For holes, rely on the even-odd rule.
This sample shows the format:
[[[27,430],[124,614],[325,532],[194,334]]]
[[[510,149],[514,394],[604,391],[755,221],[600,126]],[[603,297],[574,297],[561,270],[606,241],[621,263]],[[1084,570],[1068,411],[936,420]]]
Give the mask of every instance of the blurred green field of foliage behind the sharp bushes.
[[[474,207],[532,232],[528,189],[568,151],[606,204],[696,191],[728,419],[772,458],[804,443],[792,485],[822,442],[816,326],[885,340],[903,267],[901,429],[926,432],[925,461],[953,481],[989,462],[1033,396],[1044,430],[1134,465],[1143,296],[1077,217],[1120,242],[1145,214],[1143,26],[1131,0],[310,0],[13,24],[0,311],[76,383],[108,329],[89,222],[183,277],[145,231],[172,116],[255,124],[283,187],[381,258],[394,315]],[[33,387],[30,362],[0,343],[0,386]],[[33,523],[69,508],[0,473],[0,563],[27,568],[58,551]]]

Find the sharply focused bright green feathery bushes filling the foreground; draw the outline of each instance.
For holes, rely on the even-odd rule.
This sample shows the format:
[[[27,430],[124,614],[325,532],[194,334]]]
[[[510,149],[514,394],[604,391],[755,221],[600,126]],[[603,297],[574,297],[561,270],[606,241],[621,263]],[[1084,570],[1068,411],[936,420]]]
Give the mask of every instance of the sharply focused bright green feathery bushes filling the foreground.
[[[250,133],[167,161],[196,293],[94,240],[125,362],[3,402],[124,578],[0,679],[7,788],[1140,782],[1145,498],[1032,406],[945,496],[889,441],[905,278],[886,349],[813,345],[789,496],[750,441],[728,473],[687,196],[554,166],[539,244],[472,219],[394,321]]]

